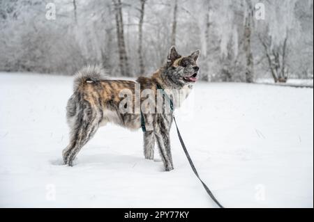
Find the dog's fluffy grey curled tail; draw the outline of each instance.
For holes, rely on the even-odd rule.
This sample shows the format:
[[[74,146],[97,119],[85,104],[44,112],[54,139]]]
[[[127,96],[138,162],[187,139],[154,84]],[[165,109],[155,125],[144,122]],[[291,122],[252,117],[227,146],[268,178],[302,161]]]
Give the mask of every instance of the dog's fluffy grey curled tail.
[[[75,74],[73,90],[84,87],[86,84],[97,83],[107,79],[105,70],[99,65],[87,65]]]

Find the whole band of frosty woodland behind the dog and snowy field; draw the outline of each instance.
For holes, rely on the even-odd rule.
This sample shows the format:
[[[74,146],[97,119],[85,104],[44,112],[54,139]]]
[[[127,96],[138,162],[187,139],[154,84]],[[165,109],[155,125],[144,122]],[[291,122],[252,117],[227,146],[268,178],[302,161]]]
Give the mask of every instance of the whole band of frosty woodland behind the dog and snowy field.
[[[47,3],[0,0],[0,70],[73,74],[91,63],[135,77],[175,44],[202,49],[207,81],[313,78],[313,0],[55,0],[52,20]]]

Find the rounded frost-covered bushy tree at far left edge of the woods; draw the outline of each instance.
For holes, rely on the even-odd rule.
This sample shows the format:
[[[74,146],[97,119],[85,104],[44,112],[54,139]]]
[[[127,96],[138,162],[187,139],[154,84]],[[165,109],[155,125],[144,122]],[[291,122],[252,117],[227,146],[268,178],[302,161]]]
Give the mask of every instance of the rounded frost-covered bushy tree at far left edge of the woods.
[[[62,11],[48,20],[47,1],[1,1],[0,67],[5,71],[70,73],[83,58]],[[57,22],[58,21],[58,22]],[[75,58],[75,59],[73,59]]]

